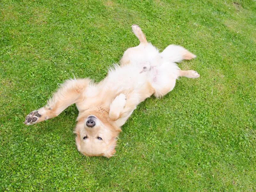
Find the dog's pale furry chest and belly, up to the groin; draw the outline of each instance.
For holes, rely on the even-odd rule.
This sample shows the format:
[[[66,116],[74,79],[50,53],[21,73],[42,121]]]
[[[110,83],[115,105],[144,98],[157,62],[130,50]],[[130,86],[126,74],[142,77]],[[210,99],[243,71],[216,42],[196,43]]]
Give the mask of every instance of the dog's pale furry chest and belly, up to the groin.
[[[150,97],[153,92],[148,83],[146,73],[140,74],[140,68],[137,66],[116,66],[110,70],[108,76],[98,85],[89,86],[84,96],[76,103],[79,111],[84,111],[97,100],[104,98],[103,105],[109,106],[113,99],[120,93],[125,94],[127,101],[134,105]]]

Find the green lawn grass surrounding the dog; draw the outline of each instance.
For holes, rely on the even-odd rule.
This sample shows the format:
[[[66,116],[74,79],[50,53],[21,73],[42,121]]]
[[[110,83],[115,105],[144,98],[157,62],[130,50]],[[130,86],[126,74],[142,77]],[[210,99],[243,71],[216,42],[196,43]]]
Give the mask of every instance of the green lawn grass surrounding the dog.
[[[0,191],[255,191],[256,2],[0,2]],[[103,79],[137,45],[131,25],[163,50],[195,53],[163,99],[141,103],[116,156],[85,157],[72,133],[78,111],[22,122],[65,79]]]

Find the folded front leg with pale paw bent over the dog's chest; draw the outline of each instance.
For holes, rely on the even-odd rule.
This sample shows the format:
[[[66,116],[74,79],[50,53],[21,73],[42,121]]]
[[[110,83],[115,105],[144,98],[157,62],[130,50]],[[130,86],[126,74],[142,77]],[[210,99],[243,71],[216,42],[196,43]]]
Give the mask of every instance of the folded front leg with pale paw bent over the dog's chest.
[[[126,104],[126,96],[121,93],[116,96],[116,98],[112,101],[109,108],[109,114],[111,120],[116,121],[119,117],[121,112],[124,109]]]

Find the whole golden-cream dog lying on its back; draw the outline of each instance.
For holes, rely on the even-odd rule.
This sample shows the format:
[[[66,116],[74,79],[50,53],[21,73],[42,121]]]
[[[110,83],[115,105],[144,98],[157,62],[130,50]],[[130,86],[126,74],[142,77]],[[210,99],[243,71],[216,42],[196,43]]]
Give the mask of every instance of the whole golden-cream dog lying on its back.
[[[89,78],[67,80],[47,105],[28,114],[24,123],[31,125],[56,117],[76,103],[79,114],[74,133],[78,151],[85,156],[113,156],[121,126],[140,102],[153,94],[163,97],[172,91],[178,77],[200,76],[176,64],[196,55],[178,45],[169,45],[160,53],[148,43],[138,25],[133,25],[132,30],[140,44],[127,49],[120,65],[109,69],[105,79],[98,84]]]

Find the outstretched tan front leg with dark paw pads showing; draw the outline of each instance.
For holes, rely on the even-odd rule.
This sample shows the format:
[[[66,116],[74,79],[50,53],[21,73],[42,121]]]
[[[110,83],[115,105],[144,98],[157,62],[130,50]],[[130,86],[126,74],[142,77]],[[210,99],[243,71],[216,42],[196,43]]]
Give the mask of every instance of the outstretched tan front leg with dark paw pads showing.
[[[48,100],[47,105],[29,113],[24,123],[26,125],[36,124],[58,116],[65,108],[76,103],[89,84],[89,79],[67,80]]]

